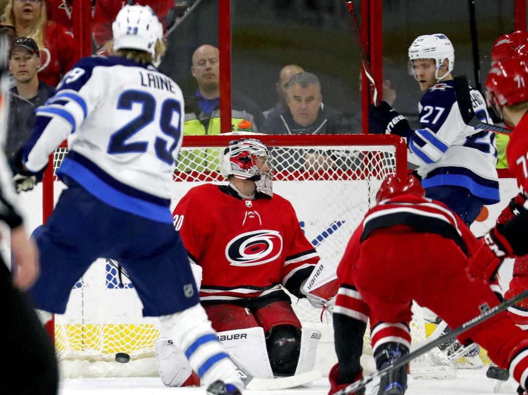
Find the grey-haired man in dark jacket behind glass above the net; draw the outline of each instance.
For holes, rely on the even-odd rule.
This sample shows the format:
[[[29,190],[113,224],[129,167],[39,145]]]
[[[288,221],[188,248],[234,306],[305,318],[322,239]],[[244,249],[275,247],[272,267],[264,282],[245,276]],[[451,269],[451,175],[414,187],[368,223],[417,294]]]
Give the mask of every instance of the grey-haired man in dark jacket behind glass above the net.
[[[263,130],[269,134],[335,134],[337,110],[323,105],[321,84],[313,73],[297,73],[287,86],[288,107],[269,116]]]

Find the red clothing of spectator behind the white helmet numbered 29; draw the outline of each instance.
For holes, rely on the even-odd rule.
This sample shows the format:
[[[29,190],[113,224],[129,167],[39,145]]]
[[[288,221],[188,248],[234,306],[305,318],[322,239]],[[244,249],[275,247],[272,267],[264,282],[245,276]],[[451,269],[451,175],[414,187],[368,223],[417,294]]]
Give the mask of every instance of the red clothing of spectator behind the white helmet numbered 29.
[[[93,41],[95,41],[97,49],[112,39],[112,22],[114,22],[119,10],[126,4],[150,6],[158,16],[159,22],[163,24],[163,30],[165,30],[167,27],[167,14],[174,7],[174,0],[97,0],[92,24]]]

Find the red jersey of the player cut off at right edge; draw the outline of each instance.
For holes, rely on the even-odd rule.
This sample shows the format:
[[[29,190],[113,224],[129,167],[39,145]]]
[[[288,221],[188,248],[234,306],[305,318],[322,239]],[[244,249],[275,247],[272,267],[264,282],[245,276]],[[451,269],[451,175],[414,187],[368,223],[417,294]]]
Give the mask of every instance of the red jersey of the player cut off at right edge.
[[[528,115],[513,129],[506,147],[506,159],[510,172],[517,178],[518,187],[528,195]]]

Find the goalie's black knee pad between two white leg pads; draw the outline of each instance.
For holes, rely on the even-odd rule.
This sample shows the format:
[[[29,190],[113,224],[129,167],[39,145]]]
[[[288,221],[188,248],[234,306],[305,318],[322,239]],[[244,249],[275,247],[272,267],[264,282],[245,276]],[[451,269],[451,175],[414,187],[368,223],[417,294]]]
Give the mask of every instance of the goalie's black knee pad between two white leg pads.
[[[300,334],[301,331],[291,325],[275,326],[268,331],[266,348],[274,375],[295,374],[300,354]]]

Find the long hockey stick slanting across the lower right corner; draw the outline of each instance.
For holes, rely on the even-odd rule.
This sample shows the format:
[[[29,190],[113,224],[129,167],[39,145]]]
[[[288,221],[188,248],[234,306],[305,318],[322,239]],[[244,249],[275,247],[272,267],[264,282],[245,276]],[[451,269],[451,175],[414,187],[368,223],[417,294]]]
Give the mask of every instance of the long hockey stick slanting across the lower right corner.
[[[385,375],[387,375],[389,372],[393,371],[394,369],[401,368],[402,366],[407,365],[409,362],[411,362],[414,358],[417,358],[418,356],[425,354],[429,350],[438,347],[440,344],[447,342],[448,340],[451,340],[452,338],[466,332],[467,330],[474,328],[477,325],[482,324],[483,322],[487,321],[489,318],[494,317],[498,313],[502,313],[505,311],[508,307],[513,306],[517,302],[520,302],[523,299],[528,298],[528,289],[524,290],[520,294],[514,296],[511,299],[505,300],[503,303],[493,307],[489,308],[487,306],[480,306],[480,310],[483,311],[482,314],[477,315],[476,317],[470,319],[468,322],[458,326],[451,332],[446,333],[443,336],[438,337],[436,340],[433,340],[430,343],[427,343],[420,347],[418,350],[415,350],[411,353],[409,353],[406,356],[403,356],[402,358],[396,360],[392,365],[387,366],[386,368],[380,370],[379,372],[373,373],[368,375],[367,377],[363,378],[360,381],[356,381],[348,387],[334,392],[332,395],[348,395],[353,392],[356,392],[357,390],[364,388],[365,385],[369,384],[370,382],[381,379]],[[484,307],[487,307],[486,309]]]

